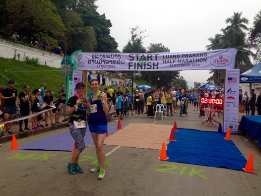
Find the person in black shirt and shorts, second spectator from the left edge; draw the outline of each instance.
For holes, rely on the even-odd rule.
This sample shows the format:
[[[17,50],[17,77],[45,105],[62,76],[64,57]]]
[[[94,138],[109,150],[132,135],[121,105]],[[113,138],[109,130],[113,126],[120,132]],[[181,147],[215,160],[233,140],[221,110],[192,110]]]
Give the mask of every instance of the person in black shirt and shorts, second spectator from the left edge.
[[[19,99],[20,99],[20,114],[21,117],[23,116],[28,116],[30,114],[30,104],[29,104],[29,99],[32,96],[32,91],[29,92],[30,87],[28,85],[24,86],[24,91],[22,91],[19,94]],[[23,125],[23,120],[19,121],[19,132],[23,133],[24,130],[22,129]],[[28,118],[25,119],[25,130],[30,131],[31,129],[28,128]]]

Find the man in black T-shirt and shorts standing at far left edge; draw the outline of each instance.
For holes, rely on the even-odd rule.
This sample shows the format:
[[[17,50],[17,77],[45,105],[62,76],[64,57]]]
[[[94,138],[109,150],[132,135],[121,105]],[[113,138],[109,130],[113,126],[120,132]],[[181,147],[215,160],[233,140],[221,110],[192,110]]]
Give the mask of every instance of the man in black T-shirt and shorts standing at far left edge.
[[[9,120],[13,120],[14,116],[16,114],[18,97],[17,97],[17,90],[14,88],[14,86],[15,86],[15,81],[10,80],[8,82],[8,88],[6,88],[2,94],[2,99],[5,99],[5,105],[6,105],[3,122],[8,121],[8,116],[9,116]],[[11,135],[14,134],[12,132],[12,125],[13,125],[13,122],[5,124],[5,126],[7,127],[7,130],[9,127],[8,134],[11,134]],[[5,135],[5,130],[2,130],[1,136],[4,136],[4,135]]]

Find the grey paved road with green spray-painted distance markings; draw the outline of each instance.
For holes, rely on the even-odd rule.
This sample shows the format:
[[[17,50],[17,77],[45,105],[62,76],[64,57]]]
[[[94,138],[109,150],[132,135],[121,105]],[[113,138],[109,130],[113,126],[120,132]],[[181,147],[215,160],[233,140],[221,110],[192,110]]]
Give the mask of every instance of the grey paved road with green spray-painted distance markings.
[[[197,128],[202,120],[196,116],[169,117],[156,123],[173,124],[177,120],[178,127]],[[145,116],[129,116],[122,124],[134,121],[155,122]],[[17,142],[23,145],[67,131],[68,128],[62,128]],[[246,159],[253,152],[254,169],[260,174],[260,152],[243,136],[232,135],[231,139]],[[96,165],[94,145],[81,154],[80,164],[84,173],[76,175],[70,175],[66,167],[71,159],[70,152],[9,151],[10,147],[11,142],[0,147],[1,195],[261,195],[260,175],[160,161],[157,159],[159,150],[104,146],[107,153],[106,177],[98,180],[98,173],[89,172]]]

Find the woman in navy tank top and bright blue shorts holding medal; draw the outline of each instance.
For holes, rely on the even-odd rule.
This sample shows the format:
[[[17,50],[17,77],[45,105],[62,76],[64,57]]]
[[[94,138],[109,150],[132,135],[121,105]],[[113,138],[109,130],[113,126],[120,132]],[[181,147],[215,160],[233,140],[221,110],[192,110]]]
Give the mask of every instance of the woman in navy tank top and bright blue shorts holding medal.
[[[93,96],[91,98],[91,104],[88,105],[89,110],[91,111],[89,117],[89,129],[95,143],[98,159],[98,165],[91,169],[90,172],[99,171],[98,178],[103,179],[105,177],[105,152],[103,149],[103,142],[105,139],[105,134],[108,130],[106,113],[108,113],[109,107],[106,94],[99,91],[99,83],[100,82],[96,79],[91,81]]]

